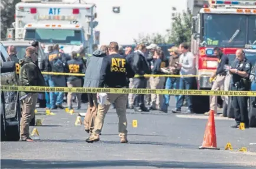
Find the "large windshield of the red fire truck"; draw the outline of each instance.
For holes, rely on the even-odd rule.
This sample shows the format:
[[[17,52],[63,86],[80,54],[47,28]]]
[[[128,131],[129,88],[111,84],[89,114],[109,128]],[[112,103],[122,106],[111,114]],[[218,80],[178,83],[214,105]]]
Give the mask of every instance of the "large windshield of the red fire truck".
[[[254,43],[255,17],[256,15],[204,13],[206,45],[244,48],[245,44]]]

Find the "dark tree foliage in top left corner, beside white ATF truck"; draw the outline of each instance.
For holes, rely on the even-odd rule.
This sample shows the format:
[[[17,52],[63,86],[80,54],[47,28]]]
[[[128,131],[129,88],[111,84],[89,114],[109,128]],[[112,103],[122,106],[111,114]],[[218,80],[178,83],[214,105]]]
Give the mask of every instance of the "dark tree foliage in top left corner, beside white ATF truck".
[[[20,0],[1,0],[1,39],[6,37],[6,30],[12,27],[14,22],[15,5]]]

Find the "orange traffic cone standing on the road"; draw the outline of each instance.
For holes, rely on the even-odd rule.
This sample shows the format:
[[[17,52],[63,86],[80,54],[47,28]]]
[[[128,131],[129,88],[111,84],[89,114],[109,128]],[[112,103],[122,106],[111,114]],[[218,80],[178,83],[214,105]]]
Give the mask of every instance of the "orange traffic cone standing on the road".
[[[209,119],[208,123],[206,124],[204,141],[199,149],[219,150],[219,148],[217,148],[216,141],[214,110],[210,110],[209,112]]]

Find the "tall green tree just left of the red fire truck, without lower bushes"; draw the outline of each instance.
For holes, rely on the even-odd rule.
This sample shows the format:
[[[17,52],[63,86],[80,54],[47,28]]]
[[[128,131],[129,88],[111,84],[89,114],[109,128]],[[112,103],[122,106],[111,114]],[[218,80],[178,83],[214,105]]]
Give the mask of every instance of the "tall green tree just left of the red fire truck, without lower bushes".
[[[191,43],[191,11],[188,9],[187,12],[177,13],[172,20],[172,30],[168,31],[168,43],[174,43],[175,45],[183,42]]]

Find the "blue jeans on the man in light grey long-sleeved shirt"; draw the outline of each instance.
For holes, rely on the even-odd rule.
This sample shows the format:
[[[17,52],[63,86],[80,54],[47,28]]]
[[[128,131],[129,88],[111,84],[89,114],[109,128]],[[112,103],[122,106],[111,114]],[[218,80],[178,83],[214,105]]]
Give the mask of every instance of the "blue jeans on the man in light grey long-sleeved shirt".
[[[180,90],[191,90],[195,77],[180,77],[179,89]],[[176,103],[176,109],[181,109],[184,102],[185,95],[180,95],[178,102]],[[188,109],[192,111],[192,99],[191,96],[186,96],[186,102],[188,103]]]

